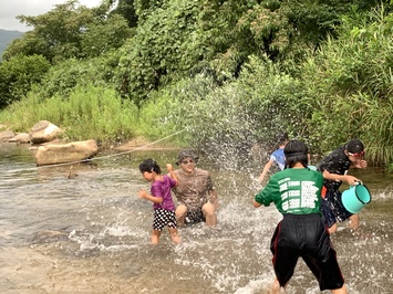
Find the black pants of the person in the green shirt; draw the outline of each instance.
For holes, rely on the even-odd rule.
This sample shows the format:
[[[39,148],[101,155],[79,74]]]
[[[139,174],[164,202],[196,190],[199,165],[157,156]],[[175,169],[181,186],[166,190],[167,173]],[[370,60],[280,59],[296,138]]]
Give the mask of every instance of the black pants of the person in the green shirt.
[[[323,290],[340,288],[344,284],[335,251],[319,214],[286,214],[276,228],[270,250],[273,253],[276,276],[283,287],[302,258]]]

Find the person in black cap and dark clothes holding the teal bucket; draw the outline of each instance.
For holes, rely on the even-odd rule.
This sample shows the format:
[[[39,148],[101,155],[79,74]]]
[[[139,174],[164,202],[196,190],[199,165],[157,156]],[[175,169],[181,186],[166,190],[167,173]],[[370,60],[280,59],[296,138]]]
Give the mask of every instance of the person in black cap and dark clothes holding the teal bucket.
[[[321,210],[330,233],[337,231],[337,222],[344,220],[350,220],[351,229],[359,227],[359,214],[352,214],[344,208],[339,188],[343,181],[350,186],[361,181],[347,172],[350,168],[366,168],[364,154],[363,143],[355,138],[333,150],[317,165],[324,178]]]

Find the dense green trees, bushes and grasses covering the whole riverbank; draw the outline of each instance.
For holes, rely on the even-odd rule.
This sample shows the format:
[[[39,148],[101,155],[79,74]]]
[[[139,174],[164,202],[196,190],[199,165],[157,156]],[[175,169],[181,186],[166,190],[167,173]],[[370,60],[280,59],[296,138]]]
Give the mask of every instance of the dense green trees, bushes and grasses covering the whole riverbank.
[[[0,64],[0,120],[23,129],[34,101],[46,112],[31,124],[50,118],[70,139],[91,119],[85,134],[95,138],[184,130],[177,144],[241,159],[256,145],[269,149],[285,129],[314,153],[360,137],[373,162],[393,161],[390,1],[116,3],[87,9],[70,0],[19,17],[33,30]],[[108,119],[106,108],[122,119]]]

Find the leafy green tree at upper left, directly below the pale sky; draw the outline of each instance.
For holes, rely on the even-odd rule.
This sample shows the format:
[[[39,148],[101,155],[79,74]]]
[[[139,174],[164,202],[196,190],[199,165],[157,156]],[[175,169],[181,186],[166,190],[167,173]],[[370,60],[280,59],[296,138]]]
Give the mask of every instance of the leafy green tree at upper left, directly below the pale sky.
[[[3,57],[41,54],[51,63],[66,59],[96,56],[121,46],[132,31],[120,14],[107,17],[107,6],[89,9],[77,0],[37,17],[19,15],[18,19],[33,27],[22,38],[12,42]]]

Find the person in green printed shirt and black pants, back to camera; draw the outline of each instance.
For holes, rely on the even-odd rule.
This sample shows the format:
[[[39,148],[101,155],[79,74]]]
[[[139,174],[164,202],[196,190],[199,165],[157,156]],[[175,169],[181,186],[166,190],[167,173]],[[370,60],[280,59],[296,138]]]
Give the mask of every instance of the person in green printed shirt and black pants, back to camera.
[[[275,203],[282,214],[271,238],[276,280],[272,293],[281,293],[302,258],[318,280],[321,291],[347,293],[344,280],[320,210],[323,177],[308,168],[308,147],[291,140],[285,149],[286,166],[255,196],[254,207]]]

